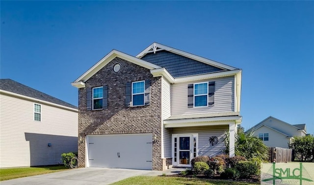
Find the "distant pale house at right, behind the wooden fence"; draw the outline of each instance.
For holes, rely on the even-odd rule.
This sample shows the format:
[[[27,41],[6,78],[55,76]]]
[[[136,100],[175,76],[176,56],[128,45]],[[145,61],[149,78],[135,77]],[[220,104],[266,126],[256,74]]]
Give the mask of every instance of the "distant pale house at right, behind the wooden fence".
[[[295,136],[305,136],[306,125],[291,125],[285,121],[269,116],[246,132],[263,140],[266,146],[288,148],[288,142]]]

